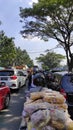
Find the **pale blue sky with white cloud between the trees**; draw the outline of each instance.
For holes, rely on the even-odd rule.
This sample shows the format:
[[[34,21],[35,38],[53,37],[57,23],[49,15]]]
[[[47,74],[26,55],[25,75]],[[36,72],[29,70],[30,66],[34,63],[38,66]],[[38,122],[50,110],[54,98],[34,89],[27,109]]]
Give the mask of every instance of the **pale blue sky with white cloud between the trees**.
[[[36,38],[24,39],[22,38],[20,31],[22,30],[22,24],[20,23],[20,7],[31,7],[33,2],[37,0],[0,0],[0,20],[2,25],[0,30],[5,32],[8,37],[14,37],[14,43],[16,47],[20,47],[22,50],[26,50],[30,58],[36,64],[36,57],[40,54],[46,54],[48,49],[55,48],[58,44],[56,40],[49,39],[48,42]],[[54,49],[54,52],[65,55],[62,48]]]

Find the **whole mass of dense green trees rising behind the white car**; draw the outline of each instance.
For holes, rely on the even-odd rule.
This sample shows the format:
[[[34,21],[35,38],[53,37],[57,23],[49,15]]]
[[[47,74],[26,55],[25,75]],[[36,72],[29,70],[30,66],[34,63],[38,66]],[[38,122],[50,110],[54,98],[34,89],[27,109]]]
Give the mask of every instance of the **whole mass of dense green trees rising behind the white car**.
[[[0,32],[0,66],[15,65],[33,66],[33,61],[26,50],[16,47],[13,38],[8,38],[3,31]]]

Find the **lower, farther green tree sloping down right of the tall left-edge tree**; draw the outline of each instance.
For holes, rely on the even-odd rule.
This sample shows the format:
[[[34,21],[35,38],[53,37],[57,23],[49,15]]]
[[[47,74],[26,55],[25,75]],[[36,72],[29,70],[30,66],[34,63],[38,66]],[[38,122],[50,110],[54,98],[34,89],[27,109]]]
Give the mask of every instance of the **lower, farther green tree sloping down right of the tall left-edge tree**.
[[[21,50],[20,47],[16,48],[15,65],[33,66],[33,61],[30,59],[26,50]]]

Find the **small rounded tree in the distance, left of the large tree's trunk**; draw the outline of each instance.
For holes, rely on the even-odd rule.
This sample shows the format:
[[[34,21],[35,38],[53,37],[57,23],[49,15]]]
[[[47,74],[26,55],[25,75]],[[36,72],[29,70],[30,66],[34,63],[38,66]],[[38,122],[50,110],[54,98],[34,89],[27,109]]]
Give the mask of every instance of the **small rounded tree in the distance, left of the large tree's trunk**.
[[[56,54],[55,52],[48,52],[46,55],[41,55],[36,59],[42,63],[44,69],[53,69],[55,67],[61,67],[60,63],[65,59],[65,56]]]

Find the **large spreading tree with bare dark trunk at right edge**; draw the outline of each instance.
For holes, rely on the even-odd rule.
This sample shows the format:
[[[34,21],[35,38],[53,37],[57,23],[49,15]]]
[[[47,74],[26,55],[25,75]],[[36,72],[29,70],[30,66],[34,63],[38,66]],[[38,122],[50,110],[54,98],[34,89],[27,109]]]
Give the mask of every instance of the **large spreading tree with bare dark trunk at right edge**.
[[[24,38],[56,39],[65,50],[68,69],[73,67],[73,0],[38,0],[32,8],[20,8]]]

